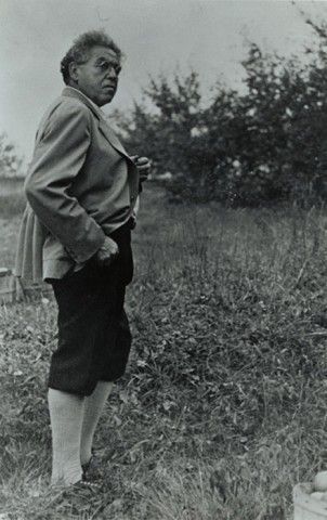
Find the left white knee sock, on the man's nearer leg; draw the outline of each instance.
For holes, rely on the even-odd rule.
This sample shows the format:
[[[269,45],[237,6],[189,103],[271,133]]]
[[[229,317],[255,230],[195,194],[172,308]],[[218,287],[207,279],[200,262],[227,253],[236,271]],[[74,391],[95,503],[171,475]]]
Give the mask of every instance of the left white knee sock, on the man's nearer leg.
[[[52,428],[52,484],[74,484],[81,479],[80,438],[84,398],[49,388]]]

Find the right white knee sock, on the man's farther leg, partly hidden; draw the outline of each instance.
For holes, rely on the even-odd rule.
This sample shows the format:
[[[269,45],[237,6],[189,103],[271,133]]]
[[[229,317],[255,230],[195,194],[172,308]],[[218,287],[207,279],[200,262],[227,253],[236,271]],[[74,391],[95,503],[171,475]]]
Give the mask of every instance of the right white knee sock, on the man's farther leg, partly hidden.
[[[87,464],[91,458],[91,450],[95,429],[113,386],[113,382],[99,381],[93,393],[86,398],[84,418],[80,444],[81,464]]]

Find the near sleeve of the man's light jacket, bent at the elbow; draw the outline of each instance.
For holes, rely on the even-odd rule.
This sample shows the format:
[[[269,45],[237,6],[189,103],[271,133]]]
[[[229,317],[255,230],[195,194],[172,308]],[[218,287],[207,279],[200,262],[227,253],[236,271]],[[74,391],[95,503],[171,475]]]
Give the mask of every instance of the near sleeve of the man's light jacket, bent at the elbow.
[[[82,105],[62,103],[39,131],[25,182],[35,213],[76,262],[91,258],[105,239],[101,226],[69,193],[91,142],[90,117]]]

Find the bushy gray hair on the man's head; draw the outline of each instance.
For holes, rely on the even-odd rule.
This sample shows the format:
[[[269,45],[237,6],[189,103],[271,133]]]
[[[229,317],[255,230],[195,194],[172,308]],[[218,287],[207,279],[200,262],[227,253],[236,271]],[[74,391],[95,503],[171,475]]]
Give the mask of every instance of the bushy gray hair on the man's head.
[[[83,32],[74,40],[73,47],[70,47],[69,51],[61,61],[61,73],[66,84],[68,84],[70,79],[69,64],[71,62],[79,65],[86,63],[89,60],[90,50],[93,47],[107,47],[116,52],[119,60],[123,56],[119,47],[116,46],[113,38],[106,35],[104,30],[89,30],[88,32]]]

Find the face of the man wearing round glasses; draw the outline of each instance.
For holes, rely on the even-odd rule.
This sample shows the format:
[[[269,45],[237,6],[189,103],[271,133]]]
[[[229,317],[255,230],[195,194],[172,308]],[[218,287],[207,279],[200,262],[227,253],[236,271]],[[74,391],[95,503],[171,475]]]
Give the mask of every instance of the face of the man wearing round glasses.
[[[120,62],[116,52],[93,47],[87,63],[74,65],[71,74],[77,88],[97,106],[109,103],[117,90]]]

